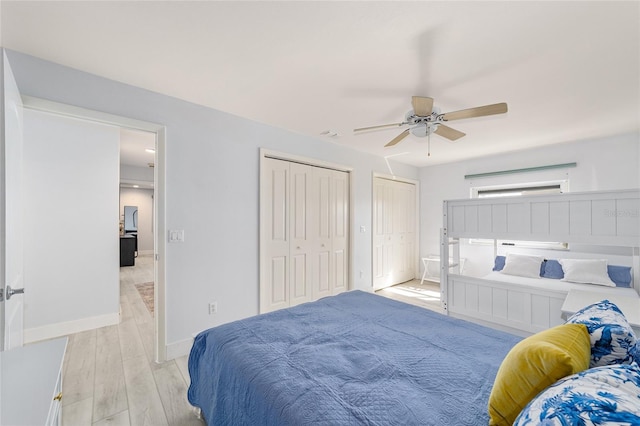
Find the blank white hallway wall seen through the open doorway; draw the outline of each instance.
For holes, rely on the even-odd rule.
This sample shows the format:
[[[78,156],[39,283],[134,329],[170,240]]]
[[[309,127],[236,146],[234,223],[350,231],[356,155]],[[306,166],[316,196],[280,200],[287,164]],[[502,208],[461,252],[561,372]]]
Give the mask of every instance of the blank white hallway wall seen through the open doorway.
[[[118,322],[119,129],[24,112],[25,341]]]

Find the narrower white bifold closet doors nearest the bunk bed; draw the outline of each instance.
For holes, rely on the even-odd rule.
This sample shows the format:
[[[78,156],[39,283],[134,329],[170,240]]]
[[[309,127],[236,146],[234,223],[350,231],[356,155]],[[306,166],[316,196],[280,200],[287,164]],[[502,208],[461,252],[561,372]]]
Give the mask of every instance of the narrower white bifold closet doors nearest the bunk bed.
[[[415,278],[416,189],[406,182],[374,178],[373,287]]]

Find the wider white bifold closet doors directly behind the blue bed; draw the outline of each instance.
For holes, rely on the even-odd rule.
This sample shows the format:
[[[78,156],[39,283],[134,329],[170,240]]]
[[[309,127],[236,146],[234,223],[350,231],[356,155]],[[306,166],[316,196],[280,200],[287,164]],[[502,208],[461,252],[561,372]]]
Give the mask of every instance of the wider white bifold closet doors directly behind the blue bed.
[[[345,291],[349,174],[284,160],[265,164],[270,205],[261,312]]]

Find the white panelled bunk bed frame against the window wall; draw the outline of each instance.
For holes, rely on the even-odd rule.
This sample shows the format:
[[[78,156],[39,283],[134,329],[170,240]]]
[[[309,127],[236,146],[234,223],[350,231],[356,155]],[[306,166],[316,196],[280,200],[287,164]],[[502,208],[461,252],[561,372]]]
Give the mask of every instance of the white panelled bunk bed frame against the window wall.
[[[513,198],[448,200],[441,230],[441,292],[448,315],[480,322],[521,336],[562,324],[568,291],[581,284],[562,280],[522,282],[494,272],[484,277],[457,273],[449,259],[460,256],[460,241],[489,238],[561,241],[628,253],[629,288],[587,284],[589,291],[638,297],[640,288],[640,191],[594,191]],[[562,253],[572,257],[572,252]],[[497,254],[494,253],[494,256]],[[593,256],[598,256],[593,254]],[[467,259],[469,262],[470,259]]]

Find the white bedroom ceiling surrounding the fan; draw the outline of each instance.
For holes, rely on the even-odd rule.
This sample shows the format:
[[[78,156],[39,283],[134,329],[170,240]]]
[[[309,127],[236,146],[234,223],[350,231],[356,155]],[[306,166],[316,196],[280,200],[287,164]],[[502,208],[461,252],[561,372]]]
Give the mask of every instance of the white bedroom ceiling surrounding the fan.
[[[2,44],[110,79],[424,166],[639,131],[640,3],[1,2]],[[411,96],[455,143],[401,130]],[[327,130],[339,134],[322,136]]]

